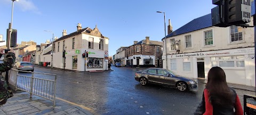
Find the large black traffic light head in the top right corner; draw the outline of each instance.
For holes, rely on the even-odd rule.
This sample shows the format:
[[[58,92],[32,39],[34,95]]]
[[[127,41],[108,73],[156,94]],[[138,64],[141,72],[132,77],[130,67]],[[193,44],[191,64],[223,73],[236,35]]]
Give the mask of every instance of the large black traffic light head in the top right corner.
[[[241,0],[212,0],[212,26],[229,27],[251,21],[251,2]]]

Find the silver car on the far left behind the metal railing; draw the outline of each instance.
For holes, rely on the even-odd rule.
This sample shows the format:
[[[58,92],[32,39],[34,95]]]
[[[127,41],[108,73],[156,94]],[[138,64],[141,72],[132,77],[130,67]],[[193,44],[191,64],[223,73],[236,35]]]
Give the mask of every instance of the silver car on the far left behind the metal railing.
[[[14,68],[22,71],[34,72],[34,65],[32,65],[31,62],[17,62],[15,63]]]

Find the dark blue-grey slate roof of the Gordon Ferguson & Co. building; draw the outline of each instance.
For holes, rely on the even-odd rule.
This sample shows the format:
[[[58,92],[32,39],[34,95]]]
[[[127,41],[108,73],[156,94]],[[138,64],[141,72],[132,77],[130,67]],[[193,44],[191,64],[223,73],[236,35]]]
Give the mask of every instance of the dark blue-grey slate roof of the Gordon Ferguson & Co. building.
[[[202,17],[196,18],[184,26],[180,27],[179,29],[171,32],[171,34],[167,35],[168,37],[178,36],[181,34],[186,34],[187,32],[196,31],[204,28],[212,27],[212,15],[207,14]],[[163,38],[164,39],[164,38]],[[163,40],[162,39],[162,40]]]

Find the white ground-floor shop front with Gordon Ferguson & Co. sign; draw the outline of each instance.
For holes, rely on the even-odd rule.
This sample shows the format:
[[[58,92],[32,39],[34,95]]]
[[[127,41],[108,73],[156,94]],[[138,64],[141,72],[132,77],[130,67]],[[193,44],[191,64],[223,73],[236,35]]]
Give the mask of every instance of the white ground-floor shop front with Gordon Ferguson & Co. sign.
[[[207,79],[212,67],[221,67],[228,83],[255,86],[253,47],[167,56],[167,68],[185,77]]]

